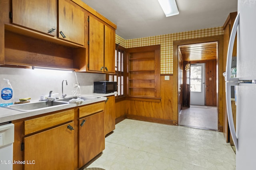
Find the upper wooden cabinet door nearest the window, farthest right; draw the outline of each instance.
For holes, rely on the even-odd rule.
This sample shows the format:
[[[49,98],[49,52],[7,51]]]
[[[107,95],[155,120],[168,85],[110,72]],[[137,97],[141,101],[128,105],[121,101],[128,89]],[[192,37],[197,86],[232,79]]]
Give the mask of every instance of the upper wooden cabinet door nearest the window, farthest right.
[[[104,72],[115,73],[116,31],[105,25]]]

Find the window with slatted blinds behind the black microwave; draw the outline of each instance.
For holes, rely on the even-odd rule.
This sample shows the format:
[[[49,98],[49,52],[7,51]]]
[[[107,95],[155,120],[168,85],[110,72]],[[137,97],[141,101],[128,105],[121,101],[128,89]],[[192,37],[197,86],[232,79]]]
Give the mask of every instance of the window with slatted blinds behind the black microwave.
[[[116,47],[115,52],[115,74],[109,74],[109,81],[117,82],[116,98],[124,96],[124,56],[125,49],[121,46]]]

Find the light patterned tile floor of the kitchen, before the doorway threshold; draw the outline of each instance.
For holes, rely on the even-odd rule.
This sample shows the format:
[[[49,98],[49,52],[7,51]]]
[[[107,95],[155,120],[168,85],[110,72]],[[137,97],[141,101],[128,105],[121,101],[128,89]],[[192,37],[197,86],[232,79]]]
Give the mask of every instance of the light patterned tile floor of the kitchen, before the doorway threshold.
[[[88,168],[105,170],[235,170],[236,155],[220,132],[125,119],[106,137]]]

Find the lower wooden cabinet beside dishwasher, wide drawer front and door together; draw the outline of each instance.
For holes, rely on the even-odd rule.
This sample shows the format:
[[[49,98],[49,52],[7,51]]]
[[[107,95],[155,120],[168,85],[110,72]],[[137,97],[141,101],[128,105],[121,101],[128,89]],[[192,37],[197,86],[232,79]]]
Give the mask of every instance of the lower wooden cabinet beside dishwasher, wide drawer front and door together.
[[[74,168],[73,120],[71,109],[24,121],[26,170]]]

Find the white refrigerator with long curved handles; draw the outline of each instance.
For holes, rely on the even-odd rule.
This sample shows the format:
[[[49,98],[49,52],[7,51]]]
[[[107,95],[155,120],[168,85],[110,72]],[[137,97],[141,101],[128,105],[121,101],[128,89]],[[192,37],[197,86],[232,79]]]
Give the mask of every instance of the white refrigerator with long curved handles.
[[[226,103],[230,133],[236,146],[236,169],[256,168],[256,0],[238,0],[226,65]],[[230,78],[232,48],[237,32],[237,76]],[[249,80],[249,81],[246,81]],[[247,82],[247,83],[246,83]],[[249,82],[249,83],[248,83]],[[230,88],[236,86],[236,131]]]

